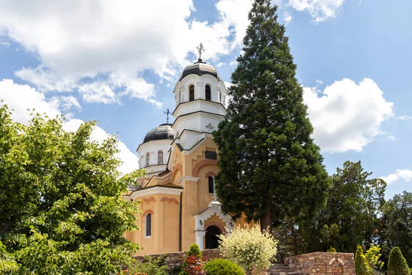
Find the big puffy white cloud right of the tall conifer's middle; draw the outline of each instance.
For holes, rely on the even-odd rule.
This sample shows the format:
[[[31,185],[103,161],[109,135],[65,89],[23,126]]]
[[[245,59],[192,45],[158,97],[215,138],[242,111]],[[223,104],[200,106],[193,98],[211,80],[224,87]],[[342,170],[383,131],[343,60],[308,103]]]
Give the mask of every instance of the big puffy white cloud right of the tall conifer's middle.
[[[393,103],[383,98],[383,92],[369,78],[359,84],[345,78],[323,92],[306,87],[304,102],[314,127],[314,140],[326,152],[362,151],[363,146],[384,133],[380,129],[382,122],[394,115]]]

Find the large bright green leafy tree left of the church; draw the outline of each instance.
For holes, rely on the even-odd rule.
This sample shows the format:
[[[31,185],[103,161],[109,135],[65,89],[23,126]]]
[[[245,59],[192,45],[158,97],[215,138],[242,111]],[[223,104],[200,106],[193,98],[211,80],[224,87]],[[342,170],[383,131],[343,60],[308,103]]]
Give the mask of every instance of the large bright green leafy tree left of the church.
[[[123,237],[138,203],[121,195],[144,171],[120,177],[117,137],[91,141],[95,124],[23,125],[0,106],[0,274],[109,274],[138,249]]]

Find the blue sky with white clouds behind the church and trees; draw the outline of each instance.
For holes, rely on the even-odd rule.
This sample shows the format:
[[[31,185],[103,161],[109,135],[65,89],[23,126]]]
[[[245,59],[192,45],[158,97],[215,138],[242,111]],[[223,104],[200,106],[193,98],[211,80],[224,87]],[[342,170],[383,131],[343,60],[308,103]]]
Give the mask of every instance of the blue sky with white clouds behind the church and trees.
[[[149,3],[148,3],[149,2]],[[412,2],[276,0],[314,140],[333,173],[345,160],[412,191]],[[0,98],[65,114],[68,131],[98,120],[118,133],[123,172],[137,168],[144,135],[174,109],[172,89],[195,47],[229,85],[247,28],[249,0],[0,1]]]

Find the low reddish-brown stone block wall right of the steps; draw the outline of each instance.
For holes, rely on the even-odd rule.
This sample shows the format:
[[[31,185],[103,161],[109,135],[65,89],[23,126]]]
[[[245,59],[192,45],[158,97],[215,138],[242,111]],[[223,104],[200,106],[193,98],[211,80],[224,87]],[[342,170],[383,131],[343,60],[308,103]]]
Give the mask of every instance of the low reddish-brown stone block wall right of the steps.
[[[355,274],[355,261],[352,253],[313,252],[287,257],[284,263],[301,274]]]

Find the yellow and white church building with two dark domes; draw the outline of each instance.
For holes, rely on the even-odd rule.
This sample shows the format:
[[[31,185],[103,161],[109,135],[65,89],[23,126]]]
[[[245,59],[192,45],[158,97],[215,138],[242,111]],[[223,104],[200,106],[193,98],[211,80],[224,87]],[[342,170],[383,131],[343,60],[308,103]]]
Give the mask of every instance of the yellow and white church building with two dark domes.
[[[146,177],[124,195],[141,201],[140,230],[126,233],[143,248],[138,254],[187,251],[192,243],[217,248],[219,234],[243,223],[221,212],[214,188],[218,148],[211,132],[226,114],[225,84],[199,58],[185,67],[173,93],[174,122],[144,137],[137,153]]]

